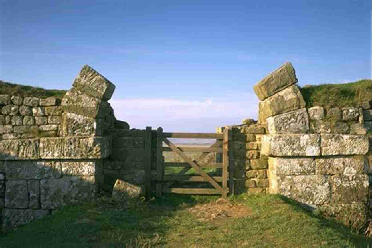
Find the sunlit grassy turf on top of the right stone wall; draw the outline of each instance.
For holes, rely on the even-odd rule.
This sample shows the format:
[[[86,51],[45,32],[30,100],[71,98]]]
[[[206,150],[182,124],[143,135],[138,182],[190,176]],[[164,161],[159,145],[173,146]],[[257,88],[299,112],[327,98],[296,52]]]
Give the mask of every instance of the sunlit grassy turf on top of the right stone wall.
[[[300,88],[307,107],[359,106],[361,102],[371,101],[371,79],[352,83],[315,85]]]

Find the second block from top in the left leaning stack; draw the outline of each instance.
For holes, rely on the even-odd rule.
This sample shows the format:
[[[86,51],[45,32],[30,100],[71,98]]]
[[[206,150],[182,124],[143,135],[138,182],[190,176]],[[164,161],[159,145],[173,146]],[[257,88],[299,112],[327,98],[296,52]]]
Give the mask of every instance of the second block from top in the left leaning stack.
[[[106,115],[112,115],[112,108],[108,102],[89,96],[75,88],[66,92],[61,106],[65,112],[92,118],[105,118]]]

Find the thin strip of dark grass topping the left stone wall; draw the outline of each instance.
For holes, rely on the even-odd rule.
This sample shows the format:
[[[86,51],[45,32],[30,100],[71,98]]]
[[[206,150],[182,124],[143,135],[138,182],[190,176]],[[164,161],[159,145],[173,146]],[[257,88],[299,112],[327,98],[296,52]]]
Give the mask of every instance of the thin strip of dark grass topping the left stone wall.
[[[17,95],[23,97],[34,96],[46,98],[49,96],[55,96],[57,98],[63,98],[65,93],[66,90],[47,90],[39,87],[18,85],[0,80],[0,94]]]

